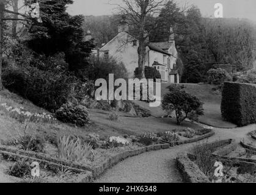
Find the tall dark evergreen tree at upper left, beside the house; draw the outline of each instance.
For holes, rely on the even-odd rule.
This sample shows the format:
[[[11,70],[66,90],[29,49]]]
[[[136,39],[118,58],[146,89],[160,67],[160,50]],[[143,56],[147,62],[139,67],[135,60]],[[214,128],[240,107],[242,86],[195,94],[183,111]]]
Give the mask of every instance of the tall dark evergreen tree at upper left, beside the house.
[[[70,71],[86,69],[89,65],[87,57],[94,45],[92,41],[83,40],[84,16],[70,16],[66,12],[67,5],[73,4],[71,0],[46,0],[39,4],[43,23],[32,22],[31,38],[27,40],[29,48],[46,56],[64,52]]]

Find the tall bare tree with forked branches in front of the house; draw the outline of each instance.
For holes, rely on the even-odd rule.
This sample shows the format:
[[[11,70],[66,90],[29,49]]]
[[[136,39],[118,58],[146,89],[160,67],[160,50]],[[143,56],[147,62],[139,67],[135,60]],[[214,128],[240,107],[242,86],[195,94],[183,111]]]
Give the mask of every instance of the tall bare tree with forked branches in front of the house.
[[[148,37],[150,32],[156,28],[156,16],[161,12],[163,7],[162,0],[122,0],[123,4],[119,4],[118,9],[126,16],[136,29],[136,38],[139,41],[139,77],[145,78],[145,58],[147,52]]]

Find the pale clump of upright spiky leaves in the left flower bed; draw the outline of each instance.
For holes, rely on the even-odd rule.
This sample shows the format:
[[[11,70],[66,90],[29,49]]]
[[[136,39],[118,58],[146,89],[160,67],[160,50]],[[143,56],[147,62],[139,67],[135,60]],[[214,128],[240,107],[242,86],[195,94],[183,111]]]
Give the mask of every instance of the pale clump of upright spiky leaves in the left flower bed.
[[[81,162],[92,153],[92,146],[87,143],[82,144],[79,138],[72,140],[70,136],[64,136],[59,138],[58,150],[59,158]]]

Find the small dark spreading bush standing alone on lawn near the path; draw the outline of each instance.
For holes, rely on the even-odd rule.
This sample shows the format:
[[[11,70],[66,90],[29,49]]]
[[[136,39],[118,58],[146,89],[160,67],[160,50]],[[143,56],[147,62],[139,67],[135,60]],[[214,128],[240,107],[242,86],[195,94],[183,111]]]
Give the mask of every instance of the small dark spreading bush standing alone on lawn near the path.
[[[172,85],[169,93],[163,98],[162,107],[170,115],[175,111],[177,124],[180,125],[186,118],[193,115],[203,115],[203,102],[196,96],[186,93],[182,87]]]

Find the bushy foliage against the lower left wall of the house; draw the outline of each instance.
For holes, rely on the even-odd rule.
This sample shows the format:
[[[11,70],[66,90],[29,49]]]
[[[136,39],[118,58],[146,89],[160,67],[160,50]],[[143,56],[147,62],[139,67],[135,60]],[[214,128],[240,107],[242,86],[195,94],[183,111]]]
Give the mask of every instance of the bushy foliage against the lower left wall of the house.
[[[127,78],[125,65],[117,62],[117,60],[111,57],[108,60],[102,57],[91,57],[90,63],[92,65],[88,70],[88,77],[90,80],[106,79],[108,81],[109,74],[114,74],[114,79]]]

